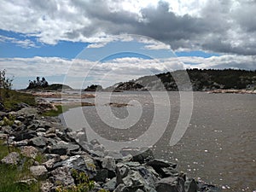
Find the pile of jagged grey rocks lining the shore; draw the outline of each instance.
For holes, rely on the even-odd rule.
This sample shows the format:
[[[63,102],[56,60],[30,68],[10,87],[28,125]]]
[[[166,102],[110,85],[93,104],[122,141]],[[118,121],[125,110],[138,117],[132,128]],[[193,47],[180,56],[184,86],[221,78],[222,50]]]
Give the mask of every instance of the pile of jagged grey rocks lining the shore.
[[[20,154],[32,158],[32,178],[26,183],[41,181],[42,191],[55,191],[61,186],[74,186],[72,170],[85,172],[95,181],[92,191],[105,189],[114,192],[197,192],[218,191],[178,172],[176,164],[154,159],[150,149],[137,153],[138,148],[124,148],[119,153],[105,150],[96,140],[86,141],[83,131],[72,131],[61,125],[59,119],[42,117],[35,108],[22,108],[12,114],[15,123],[2,126],[0,136],[10,134],[9,143],[20,148]],[[8,131],[9,130],[9,131]],[[35,160],[38,153],[45,161]],[[21,164],[20,154],[10,153],[1,163]]]

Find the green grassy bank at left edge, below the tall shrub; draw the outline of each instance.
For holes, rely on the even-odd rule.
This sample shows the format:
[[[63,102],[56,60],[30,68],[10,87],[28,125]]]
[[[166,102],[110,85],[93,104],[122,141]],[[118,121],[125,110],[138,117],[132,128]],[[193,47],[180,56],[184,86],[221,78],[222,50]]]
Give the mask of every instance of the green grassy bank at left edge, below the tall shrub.
[[[17,108],[17,104],[20,102],[25,102],[30,106],[36,105],[35,96],[15,90],[0,89],[0,97],[3,101],[4,108],[8,110],[15,110]]]

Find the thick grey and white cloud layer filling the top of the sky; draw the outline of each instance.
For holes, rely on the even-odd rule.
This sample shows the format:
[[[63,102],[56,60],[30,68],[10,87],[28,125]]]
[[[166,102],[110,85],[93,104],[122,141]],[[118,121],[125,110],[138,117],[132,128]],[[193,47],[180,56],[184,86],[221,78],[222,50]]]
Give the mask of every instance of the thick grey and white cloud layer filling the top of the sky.
[[[249,0],[3,0],[0,29],[36,37],[44,44],[67,40],[99,47],[116,35],[139,34],[172,49],[256,55],[255,6]],[[29,40],[17,44],[34,46]]]

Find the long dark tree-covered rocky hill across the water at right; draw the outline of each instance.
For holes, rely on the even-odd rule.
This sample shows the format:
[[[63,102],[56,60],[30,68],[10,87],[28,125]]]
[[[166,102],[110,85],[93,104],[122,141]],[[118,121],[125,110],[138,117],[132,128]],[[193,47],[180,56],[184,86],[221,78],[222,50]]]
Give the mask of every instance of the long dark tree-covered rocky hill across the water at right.
[[[160,73],[152,76],[119,83],[115,90],[160,90],[160,81],[166,90],[178,90],[177,77],[180,82],[186,82],[183,77],[183,70],[174,72]],[[237,69],[187,69],[193,90],[216,90],[216,89],[255,89],[256,71],[237,70]],[[159,85],[159,86],[157,86]],[[146,88],[145,88],[146,87]],[[108,89],[108,88],[107,88]]]

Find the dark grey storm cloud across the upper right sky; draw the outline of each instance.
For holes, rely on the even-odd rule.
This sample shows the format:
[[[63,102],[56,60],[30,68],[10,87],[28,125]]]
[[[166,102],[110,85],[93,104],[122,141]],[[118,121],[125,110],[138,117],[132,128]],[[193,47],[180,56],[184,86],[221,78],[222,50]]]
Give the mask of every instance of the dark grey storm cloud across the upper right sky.
[[[166,2],[158,3],[156,8],[141,9],[140,17],[122,8],[113,11],[107,1],[79,1],[75,5],[91,23],[73,33],[87,38],[97,32],[132,33],[155,38],[170,44],[172,49],[256,55],[255,1],[243,1],[235,9],[229,0],[208,2],[200,16],[177,15],[170,11],[170,4]]]

